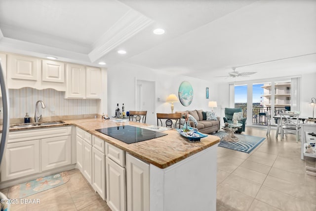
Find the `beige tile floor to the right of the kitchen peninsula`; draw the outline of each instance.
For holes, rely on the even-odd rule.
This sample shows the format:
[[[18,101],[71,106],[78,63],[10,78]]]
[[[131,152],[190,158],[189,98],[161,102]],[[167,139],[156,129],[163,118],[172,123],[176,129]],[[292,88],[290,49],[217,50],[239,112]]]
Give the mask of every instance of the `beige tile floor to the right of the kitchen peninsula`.
[[[243,134],[266,137],[266,130]],[[305,173],[315,158],[300,159],[294,135],[275,135],[250,154],[218,147],[217,211],[316,211],[316,177]]]

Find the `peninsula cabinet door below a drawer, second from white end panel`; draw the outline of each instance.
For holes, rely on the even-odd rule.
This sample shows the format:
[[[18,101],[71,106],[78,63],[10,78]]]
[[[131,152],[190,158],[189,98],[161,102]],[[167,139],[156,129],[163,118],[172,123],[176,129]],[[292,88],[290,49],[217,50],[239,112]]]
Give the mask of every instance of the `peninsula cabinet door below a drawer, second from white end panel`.
[[[125,169],[106,157],[107,204],[113,211],[126,211]]]

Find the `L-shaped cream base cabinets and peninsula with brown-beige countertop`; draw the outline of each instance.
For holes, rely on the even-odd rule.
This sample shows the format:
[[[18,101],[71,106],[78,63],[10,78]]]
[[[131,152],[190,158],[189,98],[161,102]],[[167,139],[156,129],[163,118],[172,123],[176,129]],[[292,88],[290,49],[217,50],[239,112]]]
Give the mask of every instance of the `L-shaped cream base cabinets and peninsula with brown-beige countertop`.
[[[78,168],[113,211],[216,210],[217,136],[191,143],[168,129],[162,131],[167,135],[126,144],[96,129],[147,125],[113,120],[11,125],[0,185]]]

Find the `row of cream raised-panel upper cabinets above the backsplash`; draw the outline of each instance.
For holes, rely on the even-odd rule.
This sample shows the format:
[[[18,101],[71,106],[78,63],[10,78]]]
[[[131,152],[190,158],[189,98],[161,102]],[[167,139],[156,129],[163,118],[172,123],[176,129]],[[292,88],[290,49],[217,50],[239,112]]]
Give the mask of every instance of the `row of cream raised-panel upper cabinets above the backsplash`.
[[[65,98],[101,99],[101,68],[4,52],[0,62],[8,88],[53,88],[65,91]]]

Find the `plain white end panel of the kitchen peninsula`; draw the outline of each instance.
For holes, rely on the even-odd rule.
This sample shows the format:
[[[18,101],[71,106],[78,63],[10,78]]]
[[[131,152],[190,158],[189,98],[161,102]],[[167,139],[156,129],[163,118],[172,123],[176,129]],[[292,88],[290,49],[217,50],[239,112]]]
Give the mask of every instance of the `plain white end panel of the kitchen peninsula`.
[[[151,164],[150,211],[216,211],[217,145],[165,169]]]

